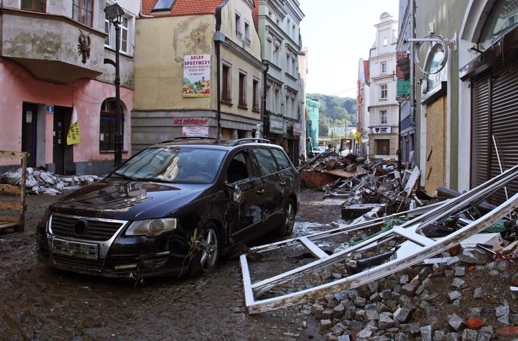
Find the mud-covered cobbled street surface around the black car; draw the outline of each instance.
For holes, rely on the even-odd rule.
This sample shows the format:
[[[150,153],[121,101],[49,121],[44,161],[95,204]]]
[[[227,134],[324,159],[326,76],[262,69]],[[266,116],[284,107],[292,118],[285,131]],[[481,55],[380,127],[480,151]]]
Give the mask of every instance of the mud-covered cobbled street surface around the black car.
[[[1,340],[324,340],[309,305],[248,315],[238,257],[222,259],[211,275],[144,282],[39,264],[35,226],[58,197],[28,196],[25,232],[0,235]],[[338,219],[335,202],[303,190],[294,236]]]

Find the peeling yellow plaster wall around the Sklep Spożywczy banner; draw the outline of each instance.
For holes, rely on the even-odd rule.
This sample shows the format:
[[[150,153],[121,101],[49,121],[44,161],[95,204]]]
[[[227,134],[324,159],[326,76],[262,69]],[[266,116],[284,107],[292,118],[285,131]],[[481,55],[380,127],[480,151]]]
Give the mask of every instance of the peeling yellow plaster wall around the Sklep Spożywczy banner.
[[[251,44],[236,37],[235,11],[250,24]],[[182,136],[174,118],[209,118],[209,136],[217,135],[218,112],[217,57],[214,15],[184,17],[145,17],[137,20],[135,31],[135,102],[133,115],[133,153],[163,140]],[[252,110],[253,80],[262,86],[260,39],[253,26],[251,8],[242,0],[231,0],[222,9],[220,46],[222,61],[231,65],[233,104],[221,105],[223,136],[238,137],[256,129],[260,113]],[[182,94],[185,55],[211,55],[211,96],[184,98]],[[239,72],[247,75],[248,108],[238,107]],[[262,93],[262,91],[261,91]]]

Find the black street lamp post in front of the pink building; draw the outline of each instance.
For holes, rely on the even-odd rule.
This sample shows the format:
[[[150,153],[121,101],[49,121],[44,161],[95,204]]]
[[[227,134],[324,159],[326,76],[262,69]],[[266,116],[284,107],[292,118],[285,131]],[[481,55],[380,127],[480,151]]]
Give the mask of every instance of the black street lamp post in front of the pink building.
[[[122,132],[120,122],[120,75],[119,75],[119,45],[120,24],[124,10],[118,3],[104,8],[104,12],[115,26],[115,63],[111,59],[104,59],[104,63],[115,66],[115,166],[122,162]]]

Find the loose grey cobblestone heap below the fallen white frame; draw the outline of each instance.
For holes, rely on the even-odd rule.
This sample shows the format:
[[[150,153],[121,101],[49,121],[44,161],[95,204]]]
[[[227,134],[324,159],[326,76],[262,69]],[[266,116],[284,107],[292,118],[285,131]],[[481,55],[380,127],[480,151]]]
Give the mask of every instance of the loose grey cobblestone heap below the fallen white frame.
[[[518,283],[514,264],[496,259],[474,265],[444,256],[447,263],[415,266],[321,297],[311,314],[326,340],[517,340],[518,311],[509,289]]]

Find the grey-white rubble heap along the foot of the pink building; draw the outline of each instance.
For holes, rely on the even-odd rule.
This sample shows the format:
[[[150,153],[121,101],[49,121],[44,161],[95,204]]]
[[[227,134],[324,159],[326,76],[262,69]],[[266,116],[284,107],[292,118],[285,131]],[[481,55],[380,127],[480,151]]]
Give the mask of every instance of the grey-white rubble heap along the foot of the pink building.
[[[21,168],[16,172],[6,172],[0,175],[0,183],[6,185],[19,185],[21,181]],[[99,180],[95,175],[61,176],[51,172],[27,168],[26,191],[27,194],[60,194],[64,190],[74,190],[88,183]]]

